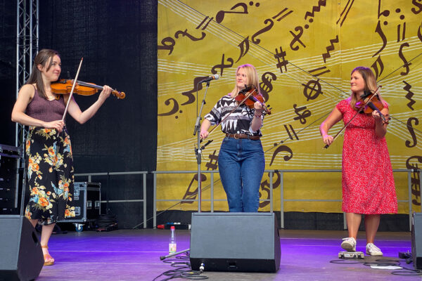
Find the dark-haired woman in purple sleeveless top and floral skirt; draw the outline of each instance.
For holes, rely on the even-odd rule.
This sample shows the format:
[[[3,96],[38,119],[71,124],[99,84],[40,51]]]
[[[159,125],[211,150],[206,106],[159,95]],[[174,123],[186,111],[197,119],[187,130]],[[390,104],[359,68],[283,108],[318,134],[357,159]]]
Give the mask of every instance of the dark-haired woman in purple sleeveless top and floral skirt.
[[[58,52],[39,51],[30,78],[20,89],[12,111],[13,122],[30,126],[25,146],[30,201],[25,216],[32,226],[42,225],[44,265],[54,263],[48,249],[54,224],[75,216],[75,207],[70,207],[74,181],[72,148],[63,121],[69,95],[58,96],[51,91],[51,82],[58,79],[60,72]],[[72,98],[69,114],[80,124],[87,122],[110,96],[110,91],[110,87],[104,86],[98,100],[84,112]]]

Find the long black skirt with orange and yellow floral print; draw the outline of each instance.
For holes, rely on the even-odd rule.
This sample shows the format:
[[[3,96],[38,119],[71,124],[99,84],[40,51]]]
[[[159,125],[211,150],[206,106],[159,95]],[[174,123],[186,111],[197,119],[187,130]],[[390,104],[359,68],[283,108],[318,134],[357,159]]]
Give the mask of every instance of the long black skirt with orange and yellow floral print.
[[[30,201],[25,216],[48,225],[75,216],[73,158],[66,128],[30,127],[25,145]]]

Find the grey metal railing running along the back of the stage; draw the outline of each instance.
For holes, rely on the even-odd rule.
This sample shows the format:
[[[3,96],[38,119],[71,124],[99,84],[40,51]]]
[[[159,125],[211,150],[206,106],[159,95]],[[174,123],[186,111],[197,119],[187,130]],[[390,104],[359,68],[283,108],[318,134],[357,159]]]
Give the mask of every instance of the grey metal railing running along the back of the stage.
[[[420,186],[422,186],[422,171],[415,171],[414,169],[393,169],[395,173],[407,173],[407,186],[408,186],[408,199],[407,200],[398,200],[398,202],[407,202],[409,205],[409,230],[411,230],[411,214],[413,213],[412,202],[411,202],[411,173],[418,172]],[[210,199],[202,201],[210,201],[211,207],[210,211],[214,211],[214,202],[215,201],[226,201],[226,200],[215,200],[214,199],[214,185],[217,181],[214,180],[214,174],[218,173],[218,170],[212,171],[200,171],[204,174],[210,174]],[[265,170],[264,172],[269,173],[269,199],[260,200],[260,202],[269,201],[269,211],[274,211],[274,192],[273,192],[273,178],[274,173],[280,173],[280,227],[284,228],[284,202],[341,202],[341,199],[334,200],[316,200],[316,199],[284,199],[284,181],[283,177],[286,173],[339,173],[341,169],[300,169],[300,170]],[[198,171],[127,171],[127,172],[105,172],[105,173],[85,173],[85,174],[75,174],[75,177],[85,176],[88,178],[88,181],[92,181],[93,176],[116,176],[116,175],[131,175],[131,174],[143,174],[143,199],[142,200],[106,200],[101,201],[101,203],[109,202],[143,202],[143,227],[146,228],[146,174],[153,174],[153,227],[157,226],[157,202],[198,202],[198,199],[167,199],[161,200],[157,199],[157,175],[158,174],[197,174]],[[343,226],[344,229],[347,228],[345,216],[343,215]]]

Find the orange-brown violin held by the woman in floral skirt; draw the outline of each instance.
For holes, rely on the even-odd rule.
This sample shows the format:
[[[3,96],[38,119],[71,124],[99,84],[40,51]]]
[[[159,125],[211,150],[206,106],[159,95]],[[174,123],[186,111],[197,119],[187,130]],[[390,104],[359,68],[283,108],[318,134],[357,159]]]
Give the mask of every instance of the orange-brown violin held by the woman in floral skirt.
[[[73,80],[71,79],[60,79],[59,81],[51,83],[51,91],[56,94],[65,94],[72,91]],[[91,96],[97,93],[99,90],[103,90],[103,86],[98,86],[94,83],[87,83],[84,81],[76,81],[74,93],[82,96]],[[112,90],[111,93],[117,98],[123,99],[126,94],[117,90]]]

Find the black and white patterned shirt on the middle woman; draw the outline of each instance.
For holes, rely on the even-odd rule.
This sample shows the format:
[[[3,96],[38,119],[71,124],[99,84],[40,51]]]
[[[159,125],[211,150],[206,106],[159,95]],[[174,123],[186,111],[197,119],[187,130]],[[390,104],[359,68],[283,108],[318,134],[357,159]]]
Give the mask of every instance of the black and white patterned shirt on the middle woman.
[[[250,128],[255,109],[251,109],[246,105],[240,105],[234,110],[236,105],[236,100],[231,98],[230,95],[223,96],[204,118],[209,120],[212,125],[215,125],[221,123],[228,116],[222,123],[223,133],[247,133],[250,136],[262,136],[260,129],[252,131]],[[232,110],[234,112],[230,114]],[[261,119],[264,120],[264,115],[261,115]]]

